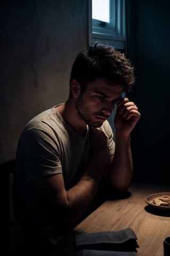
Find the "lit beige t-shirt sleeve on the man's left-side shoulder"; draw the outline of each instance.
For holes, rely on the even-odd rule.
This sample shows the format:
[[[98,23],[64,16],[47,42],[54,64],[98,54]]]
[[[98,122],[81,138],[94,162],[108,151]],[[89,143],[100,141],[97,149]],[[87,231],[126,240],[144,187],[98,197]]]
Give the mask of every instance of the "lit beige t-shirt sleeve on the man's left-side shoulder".
[[[21,136],[18,151],[28,181],[62,173],[60,149],[52,134],[38,129],[26,131]]]

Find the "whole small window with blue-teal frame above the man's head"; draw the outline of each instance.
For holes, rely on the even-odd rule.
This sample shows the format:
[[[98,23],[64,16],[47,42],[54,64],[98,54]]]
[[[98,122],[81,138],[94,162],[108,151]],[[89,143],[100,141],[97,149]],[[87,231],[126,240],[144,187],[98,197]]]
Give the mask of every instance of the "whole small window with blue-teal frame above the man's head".
[[[89,0],[89,43],[125,49],[125,0]]]

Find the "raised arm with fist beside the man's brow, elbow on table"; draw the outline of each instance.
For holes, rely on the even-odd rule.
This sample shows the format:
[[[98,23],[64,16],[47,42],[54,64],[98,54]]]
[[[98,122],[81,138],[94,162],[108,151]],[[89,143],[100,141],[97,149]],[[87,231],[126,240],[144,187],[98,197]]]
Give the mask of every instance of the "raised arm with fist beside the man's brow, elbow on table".
[[[123,98],[117,105],[115,116],[115,154],[109,167],[109,180],[118,191],[129,188],[133,175],[130,133],[140,119],[133,102]]]

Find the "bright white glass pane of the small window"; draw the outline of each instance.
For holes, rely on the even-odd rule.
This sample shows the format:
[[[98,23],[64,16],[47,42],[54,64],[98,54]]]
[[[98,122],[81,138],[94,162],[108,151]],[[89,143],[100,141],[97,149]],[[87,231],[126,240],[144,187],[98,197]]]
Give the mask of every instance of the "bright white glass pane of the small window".
[[[92,19],[109,22],[109,0],[92,0]]]

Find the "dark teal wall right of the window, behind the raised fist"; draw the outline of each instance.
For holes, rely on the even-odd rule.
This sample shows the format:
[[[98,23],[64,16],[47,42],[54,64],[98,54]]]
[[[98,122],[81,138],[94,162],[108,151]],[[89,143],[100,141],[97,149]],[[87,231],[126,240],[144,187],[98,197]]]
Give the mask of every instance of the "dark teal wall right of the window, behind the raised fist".
[[[132,99],[141,119],[132,133],[134,178],[170,185],[170,2],[138,0],[135,10]]]

